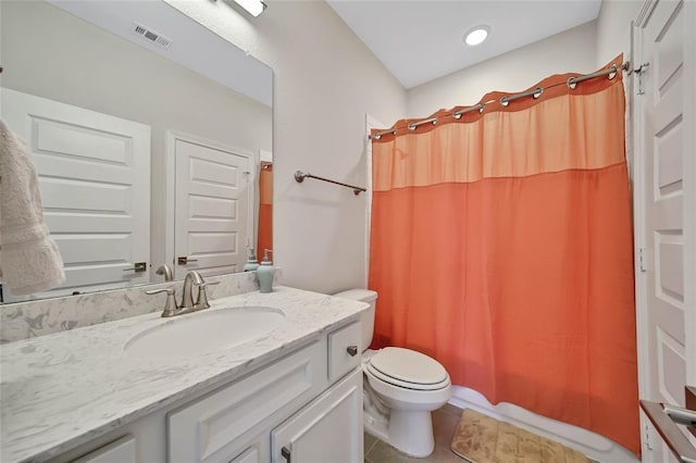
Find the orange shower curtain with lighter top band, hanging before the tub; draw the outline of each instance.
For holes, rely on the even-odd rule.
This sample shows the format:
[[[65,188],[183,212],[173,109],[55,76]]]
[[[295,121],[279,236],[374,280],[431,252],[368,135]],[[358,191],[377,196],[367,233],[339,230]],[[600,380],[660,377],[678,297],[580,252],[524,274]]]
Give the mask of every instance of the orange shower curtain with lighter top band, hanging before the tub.
[[[622,76],[574,76],[373,137],[372,347],[430,354],[493,403],[637,453]]]

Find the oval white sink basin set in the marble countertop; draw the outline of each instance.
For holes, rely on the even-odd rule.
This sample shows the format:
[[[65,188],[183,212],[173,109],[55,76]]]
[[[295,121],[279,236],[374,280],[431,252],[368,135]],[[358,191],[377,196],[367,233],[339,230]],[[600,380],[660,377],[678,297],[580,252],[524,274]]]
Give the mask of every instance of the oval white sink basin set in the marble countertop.
[[[265,306],[195,312],[137,334],[126,342],[125,351],[140,358],[199,355],[258,339],[284,321],[283,311]]]

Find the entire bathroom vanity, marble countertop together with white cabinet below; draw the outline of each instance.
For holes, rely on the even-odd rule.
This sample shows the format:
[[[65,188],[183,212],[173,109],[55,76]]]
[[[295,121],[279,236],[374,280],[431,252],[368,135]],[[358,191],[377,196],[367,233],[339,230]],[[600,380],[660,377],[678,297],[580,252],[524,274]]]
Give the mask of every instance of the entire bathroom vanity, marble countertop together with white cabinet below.
[[[207,339],[195,317],[253,308],[284,320],[241,343],[196,351],[225,325]],[[3,345],[1,460],[362,462],[358,347],[366,308],[279,287],[169,320],[150,313]],[[181,336],[187,327],[190,339]],[[133,348],[167,329],[192,353]]]

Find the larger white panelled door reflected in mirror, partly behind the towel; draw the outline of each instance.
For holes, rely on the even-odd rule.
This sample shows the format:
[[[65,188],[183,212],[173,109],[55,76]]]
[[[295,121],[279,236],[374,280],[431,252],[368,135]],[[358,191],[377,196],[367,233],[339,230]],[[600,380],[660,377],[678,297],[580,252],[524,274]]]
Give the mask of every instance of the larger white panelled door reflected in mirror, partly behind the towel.
[[[128,268],[150,260],[150,127],[5,88],[1,102],[33,153],[65,265],[65,283],[37,296],[148,283],[148,272]]]

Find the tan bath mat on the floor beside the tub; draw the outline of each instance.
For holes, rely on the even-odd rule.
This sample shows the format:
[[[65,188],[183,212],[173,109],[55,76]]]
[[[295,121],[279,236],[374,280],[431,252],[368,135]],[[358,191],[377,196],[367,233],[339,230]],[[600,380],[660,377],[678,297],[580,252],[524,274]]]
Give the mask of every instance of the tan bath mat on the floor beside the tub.
[[[471,409],[461,414],[452,452],[471,463],[588,463],[582,453]]]

